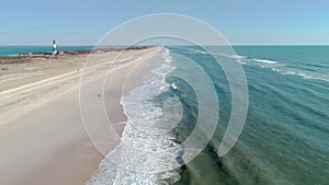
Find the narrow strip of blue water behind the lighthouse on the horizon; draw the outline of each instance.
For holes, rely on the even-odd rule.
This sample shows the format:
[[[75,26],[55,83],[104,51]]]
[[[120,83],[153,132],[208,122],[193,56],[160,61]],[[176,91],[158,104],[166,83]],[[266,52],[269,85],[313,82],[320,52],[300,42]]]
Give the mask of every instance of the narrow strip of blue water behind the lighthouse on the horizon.
[[[57,46],[57,50],[89,50],[92,46]],[[24,53],[52,53],[53,46],[0,46],[0,56]]]

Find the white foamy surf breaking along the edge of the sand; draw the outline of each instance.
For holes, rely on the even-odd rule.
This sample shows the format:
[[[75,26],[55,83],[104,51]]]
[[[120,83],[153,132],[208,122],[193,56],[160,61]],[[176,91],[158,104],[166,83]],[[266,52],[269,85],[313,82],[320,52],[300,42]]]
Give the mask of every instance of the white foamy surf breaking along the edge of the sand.
[[[171,132],[182,115],[179,97],[157,97],[169,93],[166,74],[173,70],[170,51],[164,49],[162,65],[151,70],[143,86],[122,96],[127,116],[121,143],[100,163],[88,185],[172,184],[180,178],[183,148]]]

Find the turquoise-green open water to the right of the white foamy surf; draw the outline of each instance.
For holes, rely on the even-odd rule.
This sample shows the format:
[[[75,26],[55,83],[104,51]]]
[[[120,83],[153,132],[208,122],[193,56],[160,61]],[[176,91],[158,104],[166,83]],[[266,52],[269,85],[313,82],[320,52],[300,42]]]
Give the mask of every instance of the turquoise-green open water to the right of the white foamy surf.
[[[169,47],[171,53],[193,59],[207,71],[220,102],[212,141],[182,167],[181,180],[175,184],[329,184],[329,47],[234,48],[237,56],[228,58],[245,69],[249,108],[238,142],[228,154],[218,158],[216,151],[231,108],[225,73],[201,48]],[[179,65],[173,57],[173,66]],[[183,80],[171,80],[181,86],[184,108],[189,109],[175,130],[178,140],[184,140],[197,117],[196,100]]]

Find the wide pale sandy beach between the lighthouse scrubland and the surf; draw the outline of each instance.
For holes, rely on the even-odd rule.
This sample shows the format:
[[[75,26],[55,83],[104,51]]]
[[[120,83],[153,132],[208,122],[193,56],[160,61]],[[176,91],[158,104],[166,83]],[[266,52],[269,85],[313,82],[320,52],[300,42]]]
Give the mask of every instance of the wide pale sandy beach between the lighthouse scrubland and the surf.
[[[92,120],[102,124],[107,124],[107,119],[124,122],[126,117],[120,100],[126,76],[136,69],[129,73],[129,79],[134,80],[125,84],[128,91],[141,83],[141,74],[150,69],[152,57],[160,50],[160,47],[151,47],[123,54],[39,56],[22,62],[1,62],[1,185],[84,184],[104,157],[86,132],[79,88],[88,86],[82,94],[84,107],[99,101],[104,103],[109,115],[98,116],[103,107],[91,107],[84,117],[93,116]],[[104,78],[109,69],[111,72]],[[80,84],[82,72],[83,78],[88,78],[82,81],[86,84]],[[100,83],[104,89],[99,88]],[[123,126],[114,127],[118,135]],[[99,125],[88,131],[106,134]],[[115,136],[104,138],[117,139]],[[111,151],[116,142],[111,143],[104,143],[105,151]]]

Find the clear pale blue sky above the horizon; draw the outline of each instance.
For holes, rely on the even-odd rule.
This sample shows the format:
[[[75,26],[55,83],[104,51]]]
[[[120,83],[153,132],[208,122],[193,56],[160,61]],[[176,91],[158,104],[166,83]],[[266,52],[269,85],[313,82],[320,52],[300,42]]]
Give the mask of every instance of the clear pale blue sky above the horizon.
[[[329,45],[328,0],[3,0],[0,45],[94,45],[151,13],[193,16],[234,45]]]

